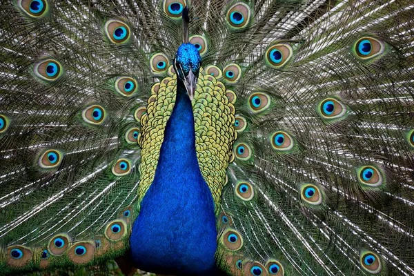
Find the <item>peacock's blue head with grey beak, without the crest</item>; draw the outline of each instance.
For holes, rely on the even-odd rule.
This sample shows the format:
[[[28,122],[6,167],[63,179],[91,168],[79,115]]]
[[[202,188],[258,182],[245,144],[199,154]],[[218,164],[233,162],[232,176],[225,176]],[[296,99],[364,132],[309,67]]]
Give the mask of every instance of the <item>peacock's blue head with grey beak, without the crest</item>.
[[[194,91],[197,85],[197,77],[201,66],[199,51],[191,43],[184,43],[179,46],[175,55],[174,69],[177,78],[183,81],[186,86],[188,97],[194,98]]]

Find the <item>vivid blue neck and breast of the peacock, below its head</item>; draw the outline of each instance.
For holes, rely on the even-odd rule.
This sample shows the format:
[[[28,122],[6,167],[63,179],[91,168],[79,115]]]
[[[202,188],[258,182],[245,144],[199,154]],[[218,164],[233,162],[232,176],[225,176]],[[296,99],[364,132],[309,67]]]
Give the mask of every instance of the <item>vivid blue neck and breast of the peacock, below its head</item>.
[[[193,108],[184,83],[166,124],[154,181],[130,236],[137,268],[162,274],[211,273],[217,230],[213,197],[195,151]]]

